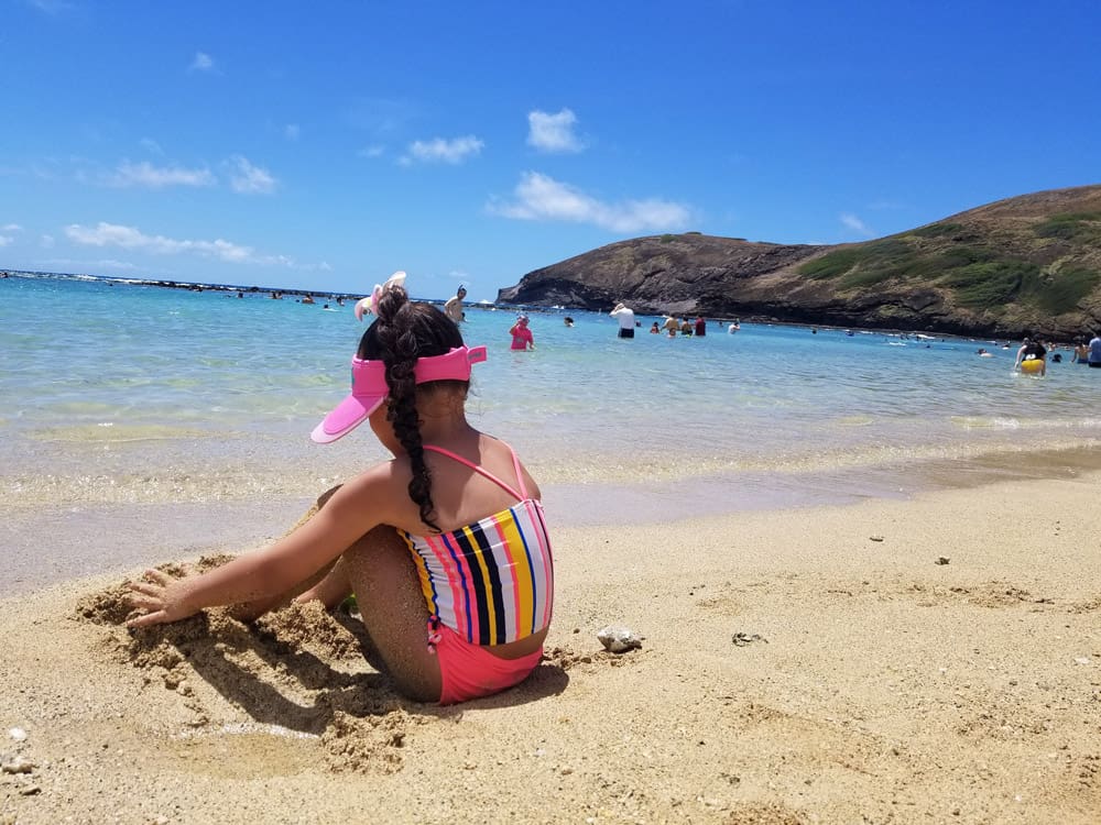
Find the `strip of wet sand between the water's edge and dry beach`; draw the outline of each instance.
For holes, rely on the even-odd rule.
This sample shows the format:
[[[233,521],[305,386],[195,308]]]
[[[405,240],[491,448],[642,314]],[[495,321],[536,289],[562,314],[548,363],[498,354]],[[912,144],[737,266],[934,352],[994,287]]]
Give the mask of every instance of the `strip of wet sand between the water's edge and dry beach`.
[[[908,501],[929,492],[974,491],[1005,481],[1075,480],[1095,473],[1101,473],[1101,448],[994,452],[967,460],[810,474],[761,471],[634,484],[547,483],[543,488],[555,528],[628,524],[641,529],[690,518]],[[0,528],[8,569],[0,598],[168,558],[265,547],[298,519],[314,497],[284,492],[205,502],[9,506]],[[89,535],[110,540],[89,542]]]

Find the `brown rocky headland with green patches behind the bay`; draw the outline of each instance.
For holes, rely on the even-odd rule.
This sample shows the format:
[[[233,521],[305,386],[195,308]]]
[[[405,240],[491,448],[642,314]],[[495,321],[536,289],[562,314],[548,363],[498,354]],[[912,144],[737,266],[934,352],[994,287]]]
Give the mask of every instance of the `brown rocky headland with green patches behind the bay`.
[[[525,275],[501,304],[1058,340],[1101,328],[1101,186],[1001,200],[865,243],[696,232],[601,246]]]

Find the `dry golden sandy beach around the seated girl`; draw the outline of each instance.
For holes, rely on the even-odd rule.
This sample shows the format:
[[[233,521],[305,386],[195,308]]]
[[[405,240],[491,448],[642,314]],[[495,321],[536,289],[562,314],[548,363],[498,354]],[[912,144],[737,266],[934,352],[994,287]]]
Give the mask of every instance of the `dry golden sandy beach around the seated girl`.
[[[0,823],[1095,823],[1099,488],[558,530],[544,663],[447,708],[319,608],[131,634],[118,575],[19,594]]]

